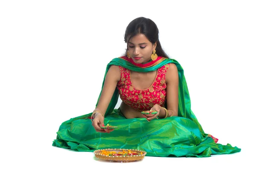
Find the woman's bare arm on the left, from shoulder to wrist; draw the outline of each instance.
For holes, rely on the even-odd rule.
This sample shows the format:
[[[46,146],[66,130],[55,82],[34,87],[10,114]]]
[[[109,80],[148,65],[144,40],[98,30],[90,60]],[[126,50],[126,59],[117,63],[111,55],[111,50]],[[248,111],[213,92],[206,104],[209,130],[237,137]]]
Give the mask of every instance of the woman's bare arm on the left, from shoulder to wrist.
[[[120,80],[120,77],[121,75],[119,67],[117,65],[111,65],[105,77],[102,94],[99,98],[99,102],[95,111],[100,111],[105,115],[105,112],[113,96],[113,93],[116,89],[117,82],[119,82]]]

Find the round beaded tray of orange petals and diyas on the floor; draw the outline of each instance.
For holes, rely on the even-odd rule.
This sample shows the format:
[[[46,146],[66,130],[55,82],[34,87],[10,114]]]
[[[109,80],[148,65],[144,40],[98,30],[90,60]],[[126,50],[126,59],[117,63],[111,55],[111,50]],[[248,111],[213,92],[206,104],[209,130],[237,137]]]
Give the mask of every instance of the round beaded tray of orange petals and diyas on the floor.
[[[144,158],[147,154],[143,150],[134,149],[101,149],[95,150],[94,155],[105,161],[138,161]]]

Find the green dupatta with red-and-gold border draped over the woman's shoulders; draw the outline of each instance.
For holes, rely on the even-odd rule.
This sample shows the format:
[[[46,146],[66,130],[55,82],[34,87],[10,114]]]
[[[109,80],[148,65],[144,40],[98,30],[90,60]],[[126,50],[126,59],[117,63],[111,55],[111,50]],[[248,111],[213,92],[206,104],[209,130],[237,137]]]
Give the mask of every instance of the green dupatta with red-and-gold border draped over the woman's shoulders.
[[[178,70],[178,74],[179,74],[178,116],[192,120],[193,122],[195,122],[196,125],[198,125],[201,133],[204,136],[208,135],[208,134],[204,133],[203,128],[201,127],[201,125],[199,124],[198,120],[196,119],[194,113],[191,110],[189,90],[188,90],[188,87],[187,87],[187,84],[186,84],[186,79],[185,79],[185,76],[184,76],[183,68],[181,67],[180,63],[178,63],[175,59],[158,57],[157,61],[155,61],[153,64],[151,64],[151,65],[147,64],[147,66],[145,66],[145,68],[142,68],[142,67],[136,66],[136,64],[131,59],[126,59],[126,58],[127,57],[114,58],[111,62],[108,63],[107,69],[106,69],[106,72],[105,72],[105,76],[104,76],[104,79],[103,79],[103,82],[102,82],[102,89],[103,89],[103,85],[104,85],[104,82],[105,82],[105,77],[106,77],[106,75],[108,73],[108,69],[111,67],[111,65],[119,65],[119,66],[127,68],[131,71],[149,72],[149,71],[155,71],[158,68],[162,67],[163,65],[166,65],[166,64],[169,64],[169,63],[174,63],[177,66],[177,70]],[[98,102],[99,102],[99,99],[100,99],[100,96],[101,96],[101,92],[99,94],[99,98],[98,98],[96,107],[98,105]],[[111,102],[108,105],[108,109],[105,113],[105,116],[107,116],[109,113],[111,113],[113,111],[113,109],[115,108],[116,103],[118,101],[118,97],[119,97],[119,92],[116,88],[116,90],[114,91],[114,94],[112,96]]]

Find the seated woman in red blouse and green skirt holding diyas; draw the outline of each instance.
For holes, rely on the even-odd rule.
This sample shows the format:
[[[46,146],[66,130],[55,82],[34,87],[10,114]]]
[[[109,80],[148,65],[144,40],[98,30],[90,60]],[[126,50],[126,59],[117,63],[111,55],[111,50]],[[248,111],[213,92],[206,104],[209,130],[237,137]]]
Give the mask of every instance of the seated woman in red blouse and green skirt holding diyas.
[[[183,69],[165,54],[158,33],[150,19],[131,21],[125,31],[127,50],[108,64],[96,109],[62,123],[53,146],[90,152],[139,149],[164,157],[240,152],[204,133],[190,109]],[[122,104],[114,109],[119,95]],[[149,110],[157,113],[141,113]],[[118,128],[101,128],[106,124]]]

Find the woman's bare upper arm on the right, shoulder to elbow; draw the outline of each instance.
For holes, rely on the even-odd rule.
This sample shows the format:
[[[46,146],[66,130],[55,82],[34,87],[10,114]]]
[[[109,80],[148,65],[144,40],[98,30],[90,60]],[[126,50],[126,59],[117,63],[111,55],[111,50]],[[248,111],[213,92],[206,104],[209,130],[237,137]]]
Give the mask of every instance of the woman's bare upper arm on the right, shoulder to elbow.
[[[166,72],[166,85],[167,85],[166,101],[167,101],[167,110],[169,111],[169,116],[171,115],[178,116],[179,75],[178,75],[177,66],[173,63],[169,65],[169,68]]]

